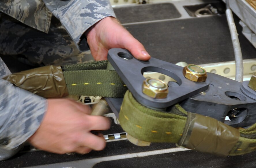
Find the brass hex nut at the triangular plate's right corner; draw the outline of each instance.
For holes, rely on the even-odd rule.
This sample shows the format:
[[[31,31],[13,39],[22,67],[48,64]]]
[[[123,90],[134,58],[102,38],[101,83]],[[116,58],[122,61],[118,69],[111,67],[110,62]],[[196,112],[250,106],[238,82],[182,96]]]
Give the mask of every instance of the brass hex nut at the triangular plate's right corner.
[[[206,70],[198,65],[188,64],[183,68],[185,78],[194,82],[204,82],[207,78]]]

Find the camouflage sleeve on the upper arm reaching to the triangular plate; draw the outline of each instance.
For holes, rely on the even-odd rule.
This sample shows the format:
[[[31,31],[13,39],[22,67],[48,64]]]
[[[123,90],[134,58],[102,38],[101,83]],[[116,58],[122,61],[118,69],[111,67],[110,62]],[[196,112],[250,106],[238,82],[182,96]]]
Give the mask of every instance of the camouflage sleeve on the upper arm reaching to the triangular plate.
[[[116,17],[109,0],[43,1],[81,51],[89,50],[83,35],[87,29],[107,16]]]

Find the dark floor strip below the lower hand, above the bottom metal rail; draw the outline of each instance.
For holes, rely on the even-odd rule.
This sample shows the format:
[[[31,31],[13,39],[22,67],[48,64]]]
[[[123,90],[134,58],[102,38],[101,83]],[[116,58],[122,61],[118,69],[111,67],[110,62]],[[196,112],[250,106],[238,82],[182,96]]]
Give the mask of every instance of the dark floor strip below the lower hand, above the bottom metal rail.
[[[152,143],[150,146],[140,147],[131,144],[128,140],[108,142],[107,146],[102,151],[92,151],[89,154],[81,155],[72,153],[68,154],[53,154],[44,151],[33,151],[19,153],[14,158],[1,161],[0,167],[28,167],[38,166],[53,163],[62,163],[70,161],[79,161],[85,159],[101,158],[106,156],[118,156],[127,153],[145,152],[151,150],[161,150],[168,148],[176,148],[175,144],[170,143]]]

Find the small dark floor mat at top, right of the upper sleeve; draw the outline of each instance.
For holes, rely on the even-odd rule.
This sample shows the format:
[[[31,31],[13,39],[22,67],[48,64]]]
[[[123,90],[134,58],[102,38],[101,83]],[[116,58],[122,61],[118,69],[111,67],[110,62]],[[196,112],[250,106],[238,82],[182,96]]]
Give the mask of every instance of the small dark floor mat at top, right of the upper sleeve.
[[[141,4],[114,8],[121,23],[179,18],[181,15],[172,3]]]

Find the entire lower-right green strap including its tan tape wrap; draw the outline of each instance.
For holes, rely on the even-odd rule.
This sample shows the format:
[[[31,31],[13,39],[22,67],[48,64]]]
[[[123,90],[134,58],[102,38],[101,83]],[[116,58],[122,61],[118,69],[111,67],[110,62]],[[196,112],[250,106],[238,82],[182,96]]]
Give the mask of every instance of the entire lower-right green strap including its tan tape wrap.
[[[129,91],[125,93],[119,121],[129,135],[146,142],[178,143],[221,156],[256,150],[256,124],[238,130],[216,119],[186,112],[178,104],[170,112],[156,111],[138,103]]]

